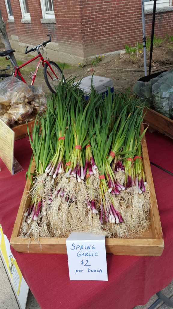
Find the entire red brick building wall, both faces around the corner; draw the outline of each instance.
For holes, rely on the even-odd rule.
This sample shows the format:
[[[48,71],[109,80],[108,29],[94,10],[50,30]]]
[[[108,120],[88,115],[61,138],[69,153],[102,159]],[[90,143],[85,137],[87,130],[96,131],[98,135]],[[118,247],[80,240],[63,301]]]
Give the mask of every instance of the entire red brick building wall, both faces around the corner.
[[[53,0],[56,23],[41,23],[40,0],[28,0],[32,23],[21,23],[19,0],[11,0],[15,23],[7,32],[24,44],[37,44],[50,33],[53,44],[66,61],[114,52],[142,42],[141,0]],[[4,0],[0,0],[3,19],[8,19]],[[152,15],[146,15],[146,35],[151,36]],[[173,11],[157,13],[155,35],[173,35]],[[57,54],[58,55],[58,54]],[[69,58],[72,56],[71,59]],[[75,61],[73,61],[75,59]]]

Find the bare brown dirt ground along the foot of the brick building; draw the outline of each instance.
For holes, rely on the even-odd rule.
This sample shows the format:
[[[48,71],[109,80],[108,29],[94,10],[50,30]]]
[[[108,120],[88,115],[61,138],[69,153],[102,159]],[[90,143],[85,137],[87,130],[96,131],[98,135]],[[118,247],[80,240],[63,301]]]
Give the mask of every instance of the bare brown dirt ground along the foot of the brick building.
[[[0,49],[3,49],[2,45],[0,45]],[[147,50],[147,67],[149,66],[149,56],[150,50]],[[15,52],[15,57],[16,60],[20,62],[19,64],[22,64],[30,59],[30,55],[25,55],[19,51]],[[140,77],[144,76],[144,60],[142,51],[131,54],[114,54],[105,57],[100,55],[100,57],[102,61],[100,61],[97,66],[90,64],[84,66],[82,69],[78,66],[69,66],[69,68],[64,69],[65,78],[77,76],[77,78],[80,79],[88,75],[92,75],[95,71],[95,75],[97,76],[112,78],[114,89],[123,91],[128,87],[132,90],[135,82]],[[61,59],[57,59],[57,61],[61,61]],[[7,64],[10,64],[9,61],[6,61],[5,57],[1,57],[0,69],[6,67]],[[158,71],[162,71],[162,67],[164,66],[170,66],[165,70],[169,70],[173,67],[173,42],[170,43],[168,39],[165,39],[161,44],[153,47],[151,73],[154,73],[158,69]],[[36,62],[32,62],[22,70],[22,74],[24,75],[24,78],[26,78],[27,83],[31,83],[28,75],[31,71],[33,72],[35,68]],[[41,66],[38,70],[35,83],[46,84]],[[48,90],[48,88],[46,88],[46,90]]]

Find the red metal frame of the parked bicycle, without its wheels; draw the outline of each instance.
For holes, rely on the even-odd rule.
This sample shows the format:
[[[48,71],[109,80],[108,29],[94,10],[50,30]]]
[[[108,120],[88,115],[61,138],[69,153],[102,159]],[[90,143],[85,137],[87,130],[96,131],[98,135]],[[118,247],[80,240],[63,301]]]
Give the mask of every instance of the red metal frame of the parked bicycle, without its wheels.
[[[21,80],[22,80],[24,83],[26,83],[25,79],[22,77],[22,74],[20,73],[20,69],[23,68],[24,66],[26,66],[27,64],[29,64],[30,62],[32,62],[32,61],[38,59],[38,58],[40,58],[40,60],[38,61],[38,65],[37,65],[36,70],[35,70],[35,72],[34,72],[34,74],[33,74],[33,76],[32,76],[31,85],[34,84],[34,80],[35,80],[35,78],[36,78],[36,75],[37,75],[37,72],[38,72],[38,69],[39,69],[39,66],[40,66],[40,63],[41,63],[41,62],[42,62],[43,67],[44,67],[44,64],[45,64],[45,62],[46,62],[47,65],[49,66],[50,70],[52,71],[52,73],[56,76],[55,72],[52,70],[52,68],[51,68],[51,66],[50,66],[50,64],[49,64],[49,61],[45,60],[45,59],[42,57],[42,54],[41,54],[41,53],[38,54],[36,57],[30,59],[29,61],[25,62],[25,63],[22,64],[21,66],[16,66],[16,67],[14,67],[14,75],[13,75],[13,76],[16,77],[17,74],[18,74],[18,75],[20,76]],[[51,77],[51,75],[49,74],[49,72],[47,72],[47,74],[48,74],[48,75],[50,76],[50,78],[53,80],[53,78]],[[58,79],[57,76],[56,76],[56,78]]]

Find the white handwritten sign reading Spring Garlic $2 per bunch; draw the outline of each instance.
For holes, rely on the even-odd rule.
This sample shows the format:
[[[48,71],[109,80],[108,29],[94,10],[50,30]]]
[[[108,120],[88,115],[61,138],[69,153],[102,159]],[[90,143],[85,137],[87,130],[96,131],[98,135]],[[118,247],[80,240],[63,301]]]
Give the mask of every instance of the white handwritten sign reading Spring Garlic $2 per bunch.
[[[70,280],[107,281],[104,235],[72,232],[66,247]]]

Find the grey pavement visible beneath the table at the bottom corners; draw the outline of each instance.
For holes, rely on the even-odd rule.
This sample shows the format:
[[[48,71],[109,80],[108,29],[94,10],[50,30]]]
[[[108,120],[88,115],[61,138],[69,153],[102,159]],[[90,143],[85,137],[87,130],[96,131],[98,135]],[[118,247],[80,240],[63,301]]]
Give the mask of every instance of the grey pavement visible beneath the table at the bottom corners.
[[[6,273],[5,265],[3,264],[3,258],[0,253],[0,278],[1,278],[1,285],[0,285],[0,309],[19,309],[20,305],[17,302],[15,292],[11,286],[11,281]],[[163,289],[163,294],[168,298],[171,298],[173,301],[173,281]],[[147,309],[151,306],[152,303],[157,299],[156,295],[153,295],[148,303],[144,306],[137,306],[134,309]],[[34,296],[32,295],[31,291],[29,290],[28,299],[26,303],[26,309],[39,309],[39,305],[35,300]],[[156,308],[160,309],[169,309],[165,303],[160,303]],[[56,308],[55,308],[56,309]],[[88,308],[89,309],[89,308]],[[119,308],[115,308],[119,309]],[[131,309],[131,308],[129,308]]]

